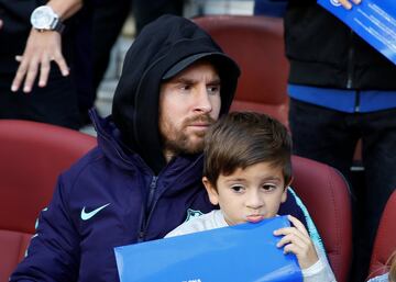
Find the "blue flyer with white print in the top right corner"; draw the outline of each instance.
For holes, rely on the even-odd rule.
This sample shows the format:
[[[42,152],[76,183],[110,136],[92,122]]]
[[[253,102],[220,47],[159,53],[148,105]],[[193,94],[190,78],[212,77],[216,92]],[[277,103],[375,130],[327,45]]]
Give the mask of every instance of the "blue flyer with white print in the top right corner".
[[[396,0],[362,0],[346,10],[338,0],[318,3],[396,65]]]

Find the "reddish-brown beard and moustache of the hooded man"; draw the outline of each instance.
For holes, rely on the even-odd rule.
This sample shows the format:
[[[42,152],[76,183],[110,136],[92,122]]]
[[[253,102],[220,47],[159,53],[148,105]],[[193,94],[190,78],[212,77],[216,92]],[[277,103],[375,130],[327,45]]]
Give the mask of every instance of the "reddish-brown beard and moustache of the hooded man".
[[[164,148],[168,151],[172,151],[174,155],[179,154],[199,154],[204,150],[204,137],[206,131],[199,131],[187,135],[186,128],[197,122],[207,123],[209,125],[213,124],[216,121],[210,117],[208,114],[186,119],[180,128],[167,128],[167,136],[164,136]],[[193,142],[191,136],[195,135],[195,138],[199,138],[198,142]]]

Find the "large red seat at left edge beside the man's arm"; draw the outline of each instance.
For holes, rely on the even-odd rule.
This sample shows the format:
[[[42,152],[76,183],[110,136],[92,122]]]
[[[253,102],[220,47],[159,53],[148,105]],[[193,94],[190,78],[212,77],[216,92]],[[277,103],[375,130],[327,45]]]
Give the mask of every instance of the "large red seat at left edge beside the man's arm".
[[[23,258],[57,176],[96,146],[89,135],[29,121],[0,121],[0,282]]]

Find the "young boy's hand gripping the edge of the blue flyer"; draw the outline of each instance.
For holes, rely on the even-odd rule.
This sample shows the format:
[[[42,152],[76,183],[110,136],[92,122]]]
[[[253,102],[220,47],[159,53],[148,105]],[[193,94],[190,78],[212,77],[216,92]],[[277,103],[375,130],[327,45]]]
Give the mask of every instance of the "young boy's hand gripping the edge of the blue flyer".
[[[285,253],[295,253],[300,268],[307,269],[319,260],[318,255],[304,224],[292,215],[288,215],[287,218],[295,227],[275,230],[274,235],[284,235],[276,246],[284,247]]]

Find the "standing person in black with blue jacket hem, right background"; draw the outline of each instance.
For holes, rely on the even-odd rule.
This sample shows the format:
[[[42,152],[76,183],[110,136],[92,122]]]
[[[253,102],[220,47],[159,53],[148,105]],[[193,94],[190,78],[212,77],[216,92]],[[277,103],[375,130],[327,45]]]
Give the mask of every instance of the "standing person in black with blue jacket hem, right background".
[[[358,9],[360,2],[339,0],[338,9]],[[351,270],[352,281],[361,282],[396,188],[396,155],[389,154],[396,147],[396,66],[316,0],[288,0],[284,24],[294,154],[326,162],[353,183],[351,167],[362,140],[365,181],[352,185],[358,201]]]

